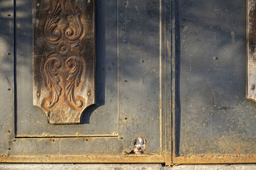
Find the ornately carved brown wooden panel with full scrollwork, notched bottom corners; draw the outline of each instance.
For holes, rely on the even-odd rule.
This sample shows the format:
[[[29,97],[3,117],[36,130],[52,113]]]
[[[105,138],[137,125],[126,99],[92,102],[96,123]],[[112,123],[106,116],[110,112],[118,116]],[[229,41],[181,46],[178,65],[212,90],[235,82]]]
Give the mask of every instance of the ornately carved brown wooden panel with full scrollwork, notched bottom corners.
[[[95,104],[94,1],[38,1],[33,20],[33,104],[50,124],[79,124]]]

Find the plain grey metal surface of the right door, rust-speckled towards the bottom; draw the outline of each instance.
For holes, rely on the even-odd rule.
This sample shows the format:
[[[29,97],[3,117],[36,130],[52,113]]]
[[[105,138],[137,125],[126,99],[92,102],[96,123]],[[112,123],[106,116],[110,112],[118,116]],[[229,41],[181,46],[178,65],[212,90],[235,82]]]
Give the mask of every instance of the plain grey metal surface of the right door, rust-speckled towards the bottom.
[[[246,1],[178,6],[173,163],[246,162],[246,154],[255,162],[256,104],[244,96]]]

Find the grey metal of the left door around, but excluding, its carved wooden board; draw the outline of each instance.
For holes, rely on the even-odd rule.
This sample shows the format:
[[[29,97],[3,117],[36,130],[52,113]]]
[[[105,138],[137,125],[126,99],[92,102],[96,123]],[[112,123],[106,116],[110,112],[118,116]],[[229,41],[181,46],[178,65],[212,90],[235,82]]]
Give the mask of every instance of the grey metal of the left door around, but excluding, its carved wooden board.
[[[172,2],[72,2],[95,3],[96,104],[84,111],[81,124],[69,125],[49,124],[33,106],[33,15],[46,7],[42,1],[0,2],[0,161],[171,164],[166,73],[172,49],[165,42],[172,44]],[[134,152],[138,137],[145,139],[141,154]]]

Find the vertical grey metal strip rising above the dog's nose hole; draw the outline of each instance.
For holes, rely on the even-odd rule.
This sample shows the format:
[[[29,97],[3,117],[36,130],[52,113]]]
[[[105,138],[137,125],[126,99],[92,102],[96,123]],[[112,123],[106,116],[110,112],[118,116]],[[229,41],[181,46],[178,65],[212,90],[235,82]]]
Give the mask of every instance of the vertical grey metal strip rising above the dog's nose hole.
[[[147,139],[146,153],[162,153],[166,113],[161,108],[166,102],[162,96],[166,78],[161,37],[164,3],[119,1],[118,8],[119,134],[125,138],[125,152],[131,152],[132,141],[143,136]]]

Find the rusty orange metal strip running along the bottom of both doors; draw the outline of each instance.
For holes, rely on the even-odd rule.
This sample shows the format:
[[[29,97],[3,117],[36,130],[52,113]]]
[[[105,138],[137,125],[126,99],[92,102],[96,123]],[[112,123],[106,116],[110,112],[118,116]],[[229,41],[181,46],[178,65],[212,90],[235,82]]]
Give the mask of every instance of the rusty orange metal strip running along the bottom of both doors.
[[[84,156],[48,156],[48,157],[0,157],[1,163],[165,163],[172,165],[172,155],[84,155]],[[241,164],[256,163],[256,155],[207,155],[175,157],[173,164]]]

